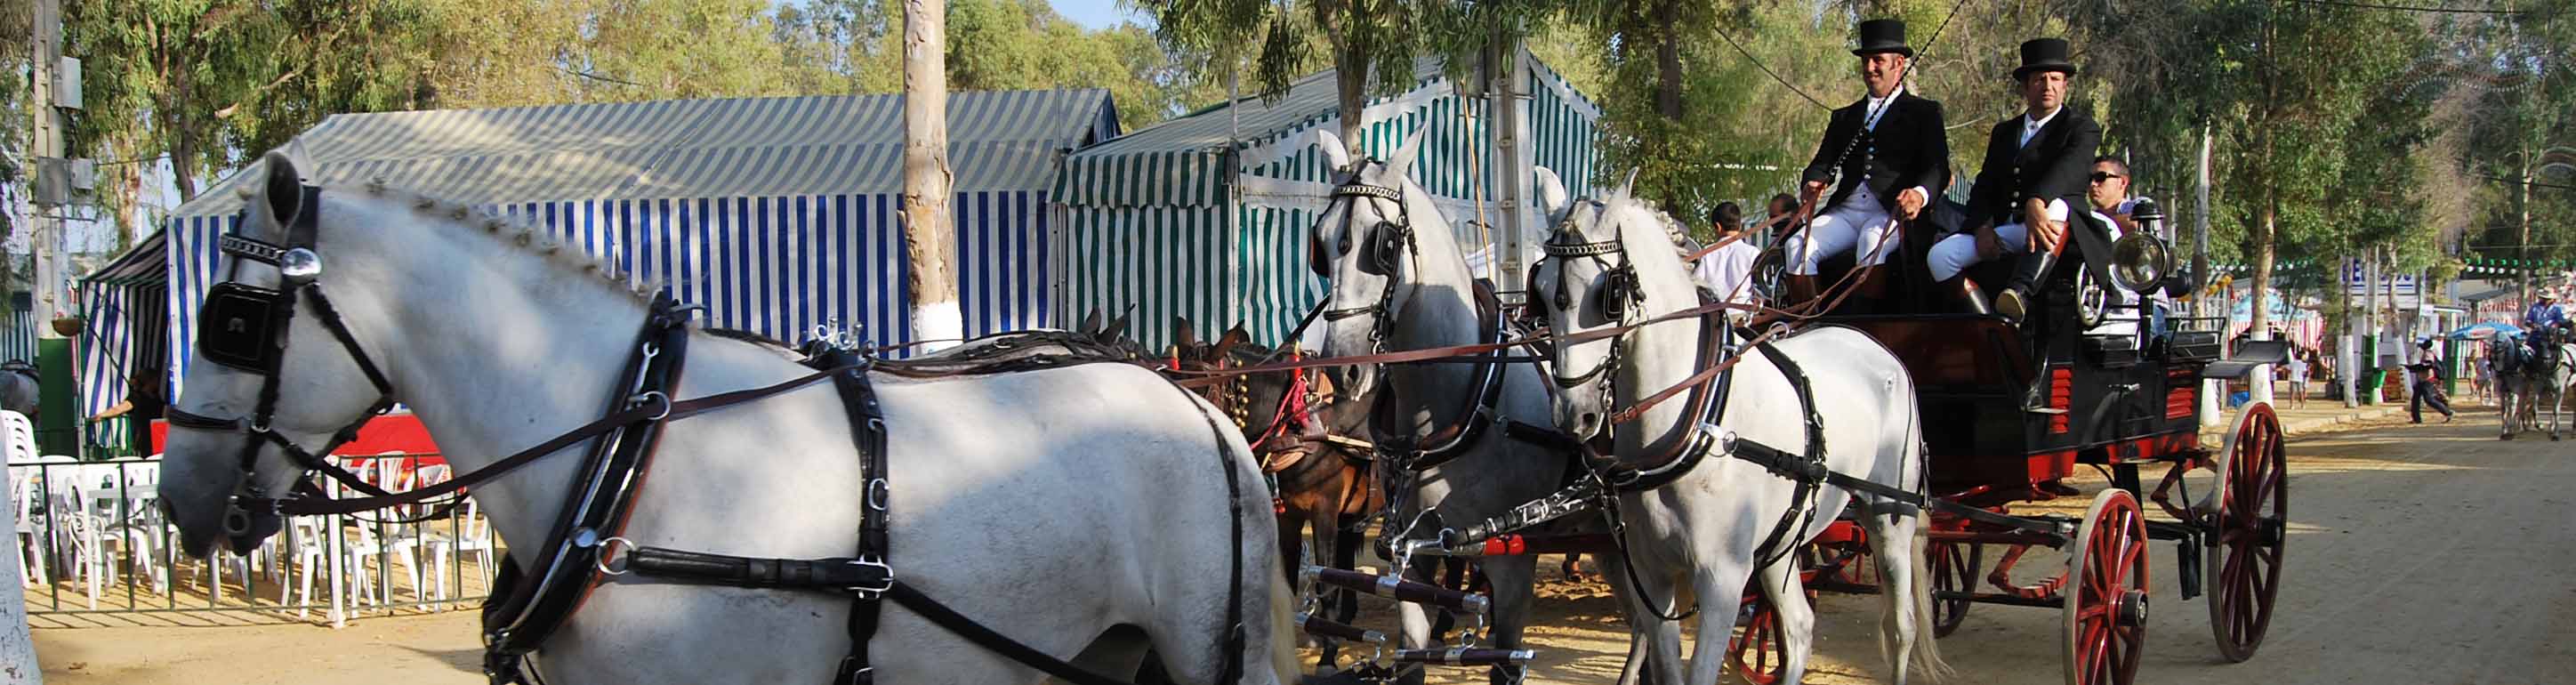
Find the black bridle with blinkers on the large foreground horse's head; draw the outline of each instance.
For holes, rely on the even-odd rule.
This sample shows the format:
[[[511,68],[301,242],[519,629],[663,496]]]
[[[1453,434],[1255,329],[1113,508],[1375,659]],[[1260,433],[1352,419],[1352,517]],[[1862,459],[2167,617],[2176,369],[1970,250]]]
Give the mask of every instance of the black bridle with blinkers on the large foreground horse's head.
[[[283,502],[283,492],[270,494],[258,479],[263,443],[278,446],[278,451],[296,461],[296,466],[304,466],[304,476],[322,471],[358,492],[386,494],[366,479],[358,479],[355,474],[322,458],[355,440],[358,427],[394,407],[394,384],[386,381],[376,358],[358,345],[358,337],[348,332],[348,322],[340,319],[340,309],[335,309],[330,296],[322,294],[322,255],[314,252],[314,224],[322,214],[319,198],[322,188],[299,185],[299,211],[286,221],[283,245],[240,234],[250,216],[245,209],[234,219],[234,229],[219,239],[219,250],[234,258],[232,270],[227,273],[227,281],[214,283],[214,288],[206,291],[206,304],[198,309],[198,355],[227,368],[258,373],[258,409],[252,409],[250,417],[232,420],[193,415],[178,407],[162,409],[173,427],[242,433],[242,484],[224,507],[224,533],[234,538],[252,536],[263,528],[273,530],[273,525],[278,525],[278,502]],[[242,260],[278,268],[283,288],[260,288],[232,281],[240,278]],[[294,438],[286,438],[286,433],[278,433],[273,425],[289,345],[286,330],[294,322],[296,304],[301,301],[312,304],[322,327],[340,340],[340,350],[348,353],[348,358],[358,363],[358,371],[366,371],[366,381],[376,386],[376,402],[368,404],[358,420],[332,433],[330,443],[319,451],[296,446]],[[312,489],[312,482],[304,476],[296,479],[294,489]]]

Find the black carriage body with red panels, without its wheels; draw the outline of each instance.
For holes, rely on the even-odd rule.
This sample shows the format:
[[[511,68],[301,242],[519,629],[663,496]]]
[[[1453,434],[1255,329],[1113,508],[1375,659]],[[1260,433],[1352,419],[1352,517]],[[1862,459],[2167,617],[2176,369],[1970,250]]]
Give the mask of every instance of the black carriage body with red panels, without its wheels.
[[[2071,317],[2035,317],[2030,327],[1976,314],[1837,322],[1878,337],[1914,376],[1935,494],[2027,500],[2032,484],[2063,479],[2076,464],[2172,461],[2200,448],[2200,371],[2215,358],[2213,332],[2087,335]]]

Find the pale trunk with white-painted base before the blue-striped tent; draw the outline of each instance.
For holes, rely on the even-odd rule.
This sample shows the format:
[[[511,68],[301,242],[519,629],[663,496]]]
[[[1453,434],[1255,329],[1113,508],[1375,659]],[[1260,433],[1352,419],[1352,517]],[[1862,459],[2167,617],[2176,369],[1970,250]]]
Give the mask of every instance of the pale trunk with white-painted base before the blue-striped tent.
[[[966,337],[948,224],[948,3],[904,0],[904,258],[912,340],[925,350]],[[945,340],[945,342],[943,342]]]

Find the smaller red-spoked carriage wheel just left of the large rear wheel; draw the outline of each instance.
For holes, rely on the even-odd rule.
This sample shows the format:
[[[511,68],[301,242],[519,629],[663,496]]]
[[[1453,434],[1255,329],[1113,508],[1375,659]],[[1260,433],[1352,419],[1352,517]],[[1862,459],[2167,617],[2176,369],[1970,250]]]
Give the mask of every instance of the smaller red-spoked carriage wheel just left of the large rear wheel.
[[[2066,685],[2128,685],[2146,646],[2146,512],[2094,494],[2066,559]]]

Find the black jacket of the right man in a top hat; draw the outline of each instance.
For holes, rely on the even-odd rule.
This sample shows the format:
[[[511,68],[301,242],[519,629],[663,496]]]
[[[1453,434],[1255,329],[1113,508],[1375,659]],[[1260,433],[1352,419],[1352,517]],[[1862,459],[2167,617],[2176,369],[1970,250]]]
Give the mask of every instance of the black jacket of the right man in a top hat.
[[[2094,147],[2102,144],[2102,126],[2076,108],[2058,108],[2058,118],[2040,126],[2030,144],[2022,144],[2022,118],[1994,124],[1986,134],[1986,165],[1968,191],[1968,221],[1963,227],[2012,224],[2022,216],[2022,201],[2066,201],[2069,214],[2084,211]],[[2069,216],[2074,219],[2074,216]]]

